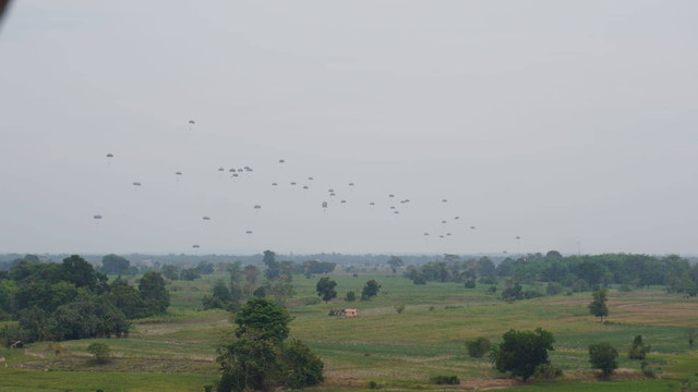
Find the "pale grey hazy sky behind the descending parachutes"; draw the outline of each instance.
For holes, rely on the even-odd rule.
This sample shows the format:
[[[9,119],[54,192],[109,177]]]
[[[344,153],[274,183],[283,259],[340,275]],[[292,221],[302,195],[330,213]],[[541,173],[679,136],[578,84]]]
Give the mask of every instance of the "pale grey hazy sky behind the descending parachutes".
[[[698,253],[697,14],[15,0],[0,253]]]

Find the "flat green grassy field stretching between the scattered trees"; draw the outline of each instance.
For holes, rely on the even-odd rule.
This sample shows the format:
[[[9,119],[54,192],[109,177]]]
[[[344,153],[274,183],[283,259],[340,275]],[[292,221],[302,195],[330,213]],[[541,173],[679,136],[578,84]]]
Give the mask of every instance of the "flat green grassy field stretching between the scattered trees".
[[[96,340],[1,348],[5,362],[0,365],[0,391],[204,391],[218,378],[215,347],[233,329],[226,311],[201,308],[202,296],[220,278],[226,277],[169,283],[168,315],[139,320],[127,339],[99,340],[113,351],[113,360],[106,365],[95,364],[86,352]],[[288,302],[294,317],[291,336],[313,347],[325,363],[326,381],[312,389],[316,391],[369,390],[372,381],[386,390],[678,391],[698,371],[698,353],[684,336],[686,328],[698,326],[698,301],[660,287],[629,293],[611,289],[609,322],[602,324],[586,307],[590,293],[508,304],[488,294],[489,285],[414,285],[399,273],[371,270],[358,277],[336,272],[332,279],[338,283],[339,298],[376,279],[382,285],[376,298],[324,304],[317,302],[317,279],[293,277],[297,294]],[[396,305],[405,305],[405,311],[398,314]],[[358,308],[359,317],[328,316],[330,309],[344,307]],[[551,358],[564,370],[555,381],[522,383],[466,353],[467,339],[496,341],[512,328],[537,327],[555,335]],[[636,334],[652,345],[648,362],[654,379],[645,378],[639,362],[625,356]],[[607,381],[598,379],[587,355],[589,344],[602,341],[622,354],[621,369]],[[461,383],[431,384],[430,377],[436,375],[456,375]]]

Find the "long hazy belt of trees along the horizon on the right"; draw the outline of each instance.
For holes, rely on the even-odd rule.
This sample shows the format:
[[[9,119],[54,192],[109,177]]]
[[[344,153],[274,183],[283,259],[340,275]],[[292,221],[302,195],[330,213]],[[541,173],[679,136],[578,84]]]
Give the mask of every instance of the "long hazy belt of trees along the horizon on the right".
[[[508,278],[516,283],[555,283],[551,290],[569,287],[575,292],[599,290],[610,284],[627,287],[664,285],[670,293],[698,294],[698,265],[689,264],[677,255],[648,256],[635,254],[604,254],[562,256],[551,250],[546,255],[530,254],[519,258],[506,258],[494,265],[488,257],[462,260],[457,255],[445,255],[443,260],[421,266],[410,265],[405,277],[416,284],[426,282],[495,283],[497,278]],[[522,293],[522,292],[521,292]],[[555,294],[555,293],[552,293]],[[521,294],[524,295],[524,294]]]

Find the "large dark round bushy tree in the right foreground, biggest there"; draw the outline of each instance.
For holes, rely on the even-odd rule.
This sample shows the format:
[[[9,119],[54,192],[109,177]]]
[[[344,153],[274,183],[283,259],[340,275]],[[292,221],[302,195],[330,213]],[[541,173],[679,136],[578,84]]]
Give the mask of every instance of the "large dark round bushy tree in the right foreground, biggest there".
[[[554,350],[555,339],[551,332],[541,328],[535,331],[510,330],[503,342],[490,351],[490,360],[502,371],[521,377],[525,381],[535,372],[539,365],[550,364],[547,351]]]

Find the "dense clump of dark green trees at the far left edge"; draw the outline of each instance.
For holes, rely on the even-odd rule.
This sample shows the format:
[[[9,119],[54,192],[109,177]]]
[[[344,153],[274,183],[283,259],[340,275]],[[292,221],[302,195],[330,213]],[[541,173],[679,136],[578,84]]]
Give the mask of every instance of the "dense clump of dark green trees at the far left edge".
[[[145,273],[137,289],[120,278],[108,283],[105,273],[77,255],[62,264],[27,256],[0,272],[0,320],[17,321],[0,330],[5,343],[123,336],[130,320],[168,306],[158,272]]]

